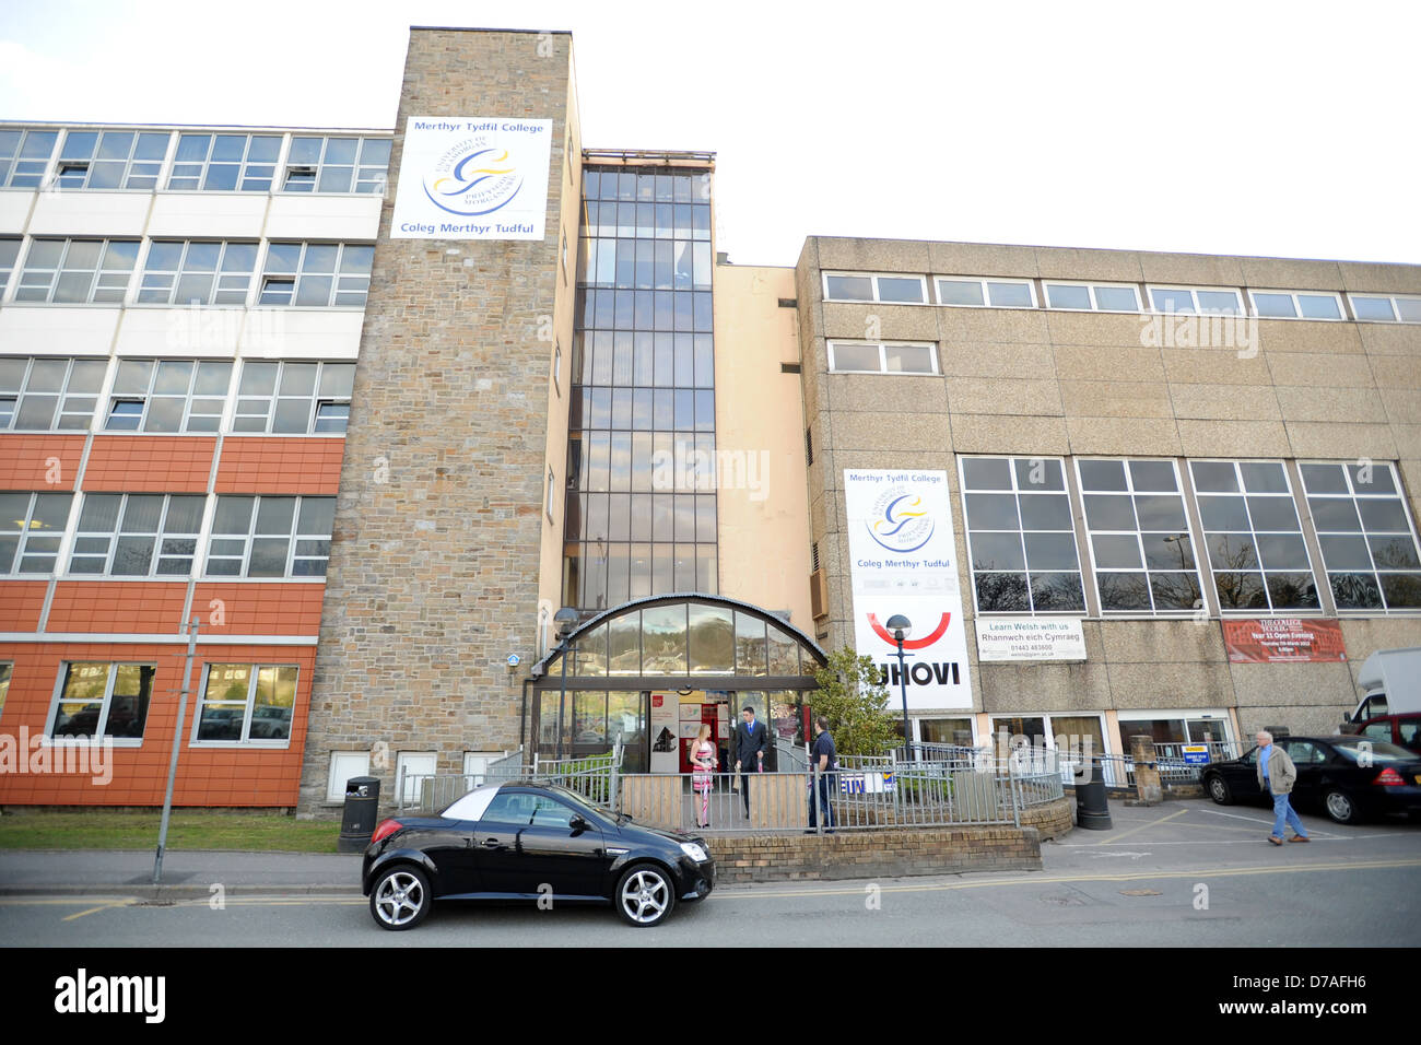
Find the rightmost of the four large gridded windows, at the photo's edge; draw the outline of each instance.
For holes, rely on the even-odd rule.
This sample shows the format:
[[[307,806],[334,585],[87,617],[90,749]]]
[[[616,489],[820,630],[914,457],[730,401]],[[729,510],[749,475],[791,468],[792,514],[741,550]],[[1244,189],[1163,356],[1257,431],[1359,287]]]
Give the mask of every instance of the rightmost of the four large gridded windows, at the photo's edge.
[[[1337,610],[1421,609],[1421,556],[1388,463],[1299,465]]]

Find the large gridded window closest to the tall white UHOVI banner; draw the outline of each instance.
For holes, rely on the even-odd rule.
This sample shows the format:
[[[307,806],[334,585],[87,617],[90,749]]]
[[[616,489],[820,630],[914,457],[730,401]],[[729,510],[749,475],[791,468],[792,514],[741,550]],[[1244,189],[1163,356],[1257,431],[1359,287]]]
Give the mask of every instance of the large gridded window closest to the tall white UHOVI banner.
[[[961,458],[979,613],[1084,613],[1066,475],[1056,458]]]

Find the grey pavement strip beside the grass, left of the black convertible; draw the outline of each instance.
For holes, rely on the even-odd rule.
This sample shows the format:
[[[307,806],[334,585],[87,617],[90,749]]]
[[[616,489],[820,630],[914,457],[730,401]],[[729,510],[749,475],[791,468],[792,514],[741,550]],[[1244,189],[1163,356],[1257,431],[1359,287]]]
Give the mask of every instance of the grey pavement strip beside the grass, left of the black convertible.
[[[0,896],[138,896],[190,900],[220,884],[227,896],[360,896],[361,853],[163,853],[153,884],[153,849],[0,850]]]

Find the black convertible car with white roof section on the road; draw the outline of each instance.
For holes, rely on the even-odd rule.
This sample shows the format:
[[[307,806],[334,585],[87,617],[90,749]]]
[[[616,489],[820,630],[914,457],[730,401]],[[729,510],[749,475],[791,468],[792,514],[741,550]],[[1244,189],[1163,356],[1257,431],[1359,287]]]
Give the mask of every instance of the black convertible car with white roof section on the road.
[[[547,783],[486,783],[438,816],[375,827],[361,870],[381,928],[414,928],[435,900],[611,903],[657,926],[715,887],[703,839],[634,823]]]

